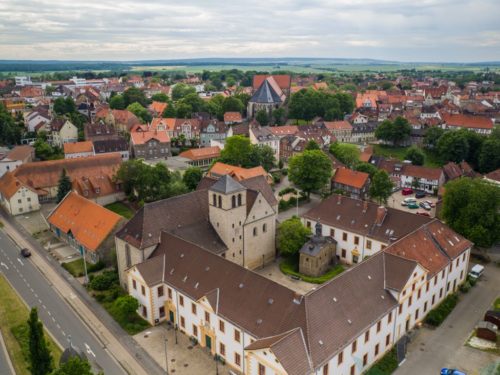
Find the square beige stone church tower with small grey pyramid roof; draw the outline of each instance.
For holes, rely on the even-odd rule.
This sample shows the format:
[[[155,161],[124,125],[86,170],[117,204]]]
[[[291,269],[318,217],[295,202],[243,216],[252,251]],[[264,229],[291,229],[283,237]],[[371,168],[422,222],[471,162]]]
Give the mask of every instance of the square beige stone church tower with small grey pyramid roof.
[[[243,265],[243,225],[247,215],[246,188],[231,176],[222,176],[208,190],[209,218],[226,244],[226,259]]]

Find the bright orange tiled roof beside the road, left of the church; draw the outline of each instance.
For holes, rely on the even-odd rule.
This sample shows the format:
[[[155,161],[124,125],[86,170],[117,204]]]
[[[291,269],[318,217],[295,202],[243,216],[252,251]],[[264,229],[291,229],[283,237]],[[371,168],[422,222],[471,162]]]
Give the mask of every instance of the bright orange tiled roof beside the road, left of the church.
[[[77,193],[70,192],[47,218],[86,249],[96,251],[122,217]]]

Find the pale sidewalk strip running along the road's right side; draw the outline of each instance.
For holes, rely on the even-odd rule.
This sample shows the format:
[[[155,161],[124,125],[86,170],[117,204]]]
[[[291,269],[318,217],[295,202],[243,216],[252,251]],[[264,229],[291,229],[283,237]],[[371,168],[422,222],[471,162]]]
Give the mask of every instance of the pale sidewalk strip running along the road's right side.
[[[22,228],[3,212],[5,232],[20,246],[32,250],[32,261],[95,337],[130,374],[162,374],[156,362],[109,316],[69,273]],[[45,255],[46,254],[46,255]],[[140,361],[140,363],[139,363]]]

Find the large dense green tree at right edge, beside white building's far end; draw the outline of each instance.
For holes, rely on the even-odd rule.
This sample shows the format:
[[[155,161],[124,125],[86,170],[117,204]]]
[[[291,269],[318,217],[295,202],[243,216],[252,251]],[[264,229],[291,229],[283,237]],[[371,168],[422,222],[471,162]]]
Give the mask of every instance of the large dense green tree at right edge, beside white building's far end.
[[[460,178],[446,184],[443,219],[477,246],[500,240],[500,189],[484,180]]]

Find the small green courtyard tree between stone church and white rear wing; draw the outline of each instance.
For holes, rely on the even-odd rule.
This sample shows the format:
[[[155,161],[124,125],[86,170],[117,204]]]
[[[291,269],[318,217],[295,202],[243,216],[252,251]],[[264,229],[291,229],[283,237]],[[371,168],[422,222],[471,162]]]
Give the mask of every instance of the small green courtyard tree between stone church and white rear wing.
[[[278,250],[283,256],[293,256],[304,246],[310,235],[311,230],[297,216],[285,220],[278,227]]]

